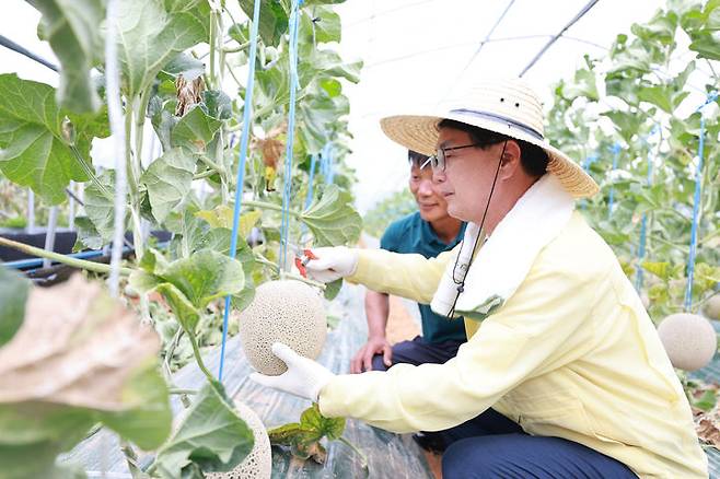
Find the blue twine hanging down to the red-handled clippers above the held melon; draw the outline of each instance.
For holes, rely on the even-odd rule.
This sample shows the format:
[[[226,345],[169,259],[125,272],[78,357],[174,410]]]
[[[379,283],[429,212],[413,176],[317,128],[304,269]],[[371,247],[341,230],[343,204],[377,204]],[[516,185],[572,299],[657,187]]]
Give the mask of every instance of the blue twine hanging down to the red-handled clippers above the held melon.
[[[290,233],[290,191],[292,187],[292,143],[295,130],[295,96],[300,87],[298,80],[298,23],[300,19],[300,5],[303,0],[292,0],[292,12],[290,13],[290,39],[288,52],[290,56],[290,107],[288,113],[288,143],[286,144],[284,178],[282,188],[282,220],[280,222],[280,258],[278,266],[281,271],[287,271],[288,235]]]

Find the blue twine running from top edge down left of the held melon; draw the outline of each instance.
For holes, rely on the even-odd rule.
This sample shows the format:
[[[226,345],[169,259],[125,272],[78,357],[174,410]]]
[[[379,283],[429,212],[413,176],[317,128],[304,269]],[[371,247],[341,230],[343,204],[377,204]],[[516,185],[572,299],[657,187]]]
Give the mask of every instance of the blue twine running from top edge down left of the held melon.
[[[230,257],[237,256],[237,230],[240,227],[240,209],[245,182],[245,161],[247,160],[247,141],[249,139],[251,113],[253,109],[253,87],[255,85],[255,54],[257,50],[257,26],[260,20],[260,0],[255,0],[253,24],[249,33],[249,68],[247,69],[247,87],[245,89],[245,107],[243,110],[243,131],[240,139],[240,159],[237,165],[237,185],[235,187],[235,209],[233,211],[232,236],[230,238]],[[230,316],[230,294],[225,296],[225,311],[222,316],[222,347],[220,349],[220,371],[218,381],[222,382],[225,363],[225,343],[228,342],[228,317]]]

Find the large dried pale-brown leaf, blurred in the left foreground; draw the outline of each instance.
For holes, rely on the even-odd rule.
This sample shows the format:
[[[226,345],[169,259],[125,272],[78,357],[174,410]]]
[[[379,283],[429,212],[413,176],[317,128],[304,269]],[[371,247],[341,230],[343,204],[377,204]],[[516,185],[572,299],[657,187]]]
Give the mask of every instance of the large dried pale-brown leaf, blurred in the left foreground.
[[[126,379],[159,349],[156,334],[101,284],[76,276],[36,288],[21,329],[0,349],[0,404],[126,409]]]

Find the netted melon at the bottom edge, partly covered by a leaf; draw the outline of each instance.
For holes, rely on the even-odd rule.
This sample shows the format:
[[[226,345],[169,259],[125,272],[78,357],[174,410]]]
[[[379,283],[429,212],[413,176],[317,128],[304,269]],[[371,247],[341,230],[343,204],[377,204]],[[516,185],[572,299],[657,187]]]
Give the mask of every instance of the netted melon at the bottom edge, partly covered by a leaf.
[[[263,425],[263,421],[260,421],[260,418],[257,417],[255,411],[243,402],[235,401],[235,409],[237,410],[237,414],[253,431],[253,437],[255,437],[253,451],[230,472],[208,472],[205,477],[208,479],[270,479],[272,472],[272,452],[265,425]]]

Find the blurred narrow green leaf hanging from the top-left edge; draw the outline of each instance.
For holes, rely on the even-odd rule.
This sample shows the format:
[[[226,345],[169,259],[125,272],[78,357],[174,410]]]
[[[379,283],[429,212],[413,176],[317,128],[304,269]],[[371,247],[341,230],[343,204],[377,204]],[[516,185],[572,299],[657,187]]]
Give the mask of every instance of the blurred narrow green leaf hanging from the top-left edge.
[[[60,60],[57,101],[76,113],[95,112],[101,100],[90,70],[103,58],[98,28],[105,17],[102,0],[32,0],[43,13],[40,39],[50,44]]]

